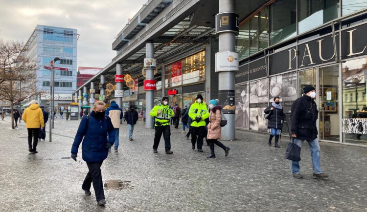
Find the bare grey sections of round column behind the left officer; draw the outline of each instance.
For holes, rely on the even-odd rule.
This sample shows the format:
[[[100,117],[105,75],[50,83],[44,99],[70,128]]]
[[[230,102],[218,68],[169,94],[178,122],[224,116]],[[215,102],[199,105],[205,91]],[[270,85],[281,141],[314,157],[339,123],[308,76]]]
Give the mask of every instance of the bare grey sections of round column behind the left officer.
[[[145,57],[146,58],[154,58],[154,44],[146,43],[145,44]],[[154,80],[154,69],[147,68],[145,69],[145,75],[147,80]],[[147,90],[145,92],[146,106],[145,106],[145,128],[153,129],[154,121],[153,118],[149,116],[150,110],[154,107],[154,90]]]

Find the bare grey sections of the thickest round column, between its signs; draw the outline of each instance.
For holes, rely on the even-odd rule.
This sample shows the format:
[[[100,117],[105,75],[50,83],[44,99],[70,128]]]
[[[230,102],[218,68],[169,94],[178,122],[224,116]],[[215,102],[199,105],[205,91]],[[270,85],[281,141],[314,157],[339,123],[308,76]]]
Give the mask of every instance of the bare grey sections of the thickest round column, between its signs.
[[[235,0],[219,0],[219,13],[235,12]],[[235,52],[236,34],[234,32],[222,32],[219,34],[219,52]],[[221,71],[219,72],[219,98],[221,98],[222,92],[228,90],[234,91],[234,71]],[[223,98],[223,96],[222,96]],[[223,99],[219,99],[223,102]],[[227,118],[227,125],[222,129],[222,140],[234,140],[235,139],[235,114],[225,114]]]

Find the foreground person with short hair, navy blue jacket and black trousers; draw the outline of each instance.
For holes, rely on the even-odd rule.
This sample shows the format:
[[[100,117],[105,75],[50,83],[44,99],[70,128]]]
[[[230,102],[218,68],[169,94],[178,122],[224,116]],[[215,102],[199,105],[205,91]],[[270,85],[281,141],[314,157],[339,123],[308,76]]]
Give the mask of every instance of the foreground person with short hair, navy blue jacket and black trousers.
[[[110,117],[105,115],[105,104],[96,102],[89,116],[84,116],[76,132],[71,148],[71,158],[76,161],[78,148],[82,144],[83,160],[87,163],[88,174],[84,179],[82,189],[86,195],[91,195],[91,183],[98,205],[106,204],[103,191],[101,166],[107,158],[108,149],[114,144],[115,133]],[[107,133],[109,141],[107,140]],[[84,138],[84,139],[83,139]]]

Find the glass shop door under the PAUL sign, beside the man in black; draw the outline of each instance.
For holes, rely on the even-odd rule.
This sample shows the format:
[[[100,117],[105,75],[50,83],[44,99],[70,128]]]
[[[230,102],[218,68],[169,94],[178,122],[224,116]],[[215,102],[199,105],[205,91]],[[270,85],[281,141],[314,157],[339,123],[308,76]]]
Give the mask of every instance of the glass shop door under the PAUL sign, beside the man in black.
[[[319,139],[339,142],[339,65],[319,68]]]

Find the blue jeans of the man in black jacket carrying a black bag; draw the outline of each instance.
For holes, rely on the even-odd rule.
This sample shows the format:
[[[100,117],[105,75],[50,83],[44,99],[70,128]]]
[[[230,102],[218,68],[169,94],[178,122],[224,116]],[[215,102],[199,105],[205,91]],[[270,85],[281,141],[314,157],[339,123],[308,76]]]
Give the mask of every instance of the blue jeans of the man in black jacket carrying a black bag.
[[[299,140],[295,138],[295,144],[298,147],[302,148],[303,140]],[[312,170],[315,174],[322,173],[320,168],[320,145],[319,140],[315,138],[314,140],[308,142],[308,146],[310,147],[311,151],[311,159],[312,159]],[[299,173],[299,161],[291,161],[291,170],[292,174]]]

